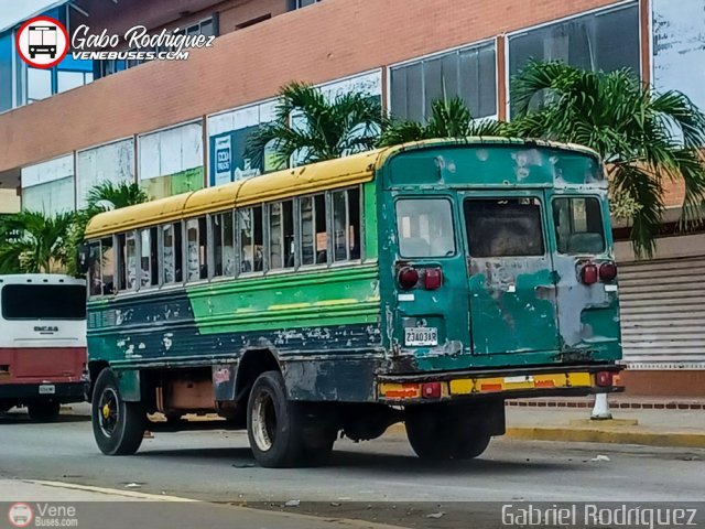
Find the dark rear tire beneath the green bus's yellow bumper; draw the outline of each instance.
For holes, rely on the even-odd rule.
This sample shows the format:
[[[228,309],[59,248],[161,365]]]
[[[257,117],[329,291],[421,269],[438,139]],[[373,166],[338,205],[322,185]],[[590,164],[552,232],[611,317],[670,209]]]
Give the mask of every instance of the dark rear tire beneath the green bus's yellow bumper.
[[[491,435],[455,411],[435,407],[408,411],[406,438],[419,457],[471,460],[485,452]]]

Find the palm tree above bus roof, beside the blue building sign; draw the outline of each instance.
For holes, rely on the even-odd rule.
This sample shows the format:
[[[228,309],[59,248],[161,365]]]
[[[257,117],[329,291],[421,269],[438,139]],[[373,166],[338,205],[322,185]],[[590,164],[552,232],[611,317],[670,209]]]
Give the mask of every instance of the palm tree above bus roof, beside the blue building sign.
[[[340,158],[372,149],[381,127],[377,98],[346,93],[328,100],[313,85],[291,83],[279,91],[274,120],[248,138],[246,158],[259,169],[268,147],[276,165],[294,155],[299,163]]]

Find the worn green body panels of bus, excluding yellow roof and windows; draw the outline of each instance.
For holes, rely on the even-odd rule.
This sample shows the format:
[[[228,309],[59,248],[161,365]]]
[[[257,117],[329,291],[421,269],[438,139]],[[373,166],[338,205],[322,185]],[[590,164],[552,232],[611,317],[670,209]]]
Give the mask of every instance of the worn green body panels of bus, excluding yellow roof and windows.
[[[159,408],[159,380],[204,370],[214,410],[237,406],[261,366],[279,369],[289,398],[302,402],[424,404],[435,400],[416,391],[421,385],[458,377],[509,377],[492,392],[500,400],[616,390],[611,384],[597,388],[594,378],[588,387],[512,389],[516,377],[529,381],[535,374],[594,377],[616,370],[621,357],[616,282],[598,278],[586,284],[581,277],[586,263],[614,261],[607,183],[594,153],[500,140],[409,144],[387,156],[360,190],[357,261],[89,300],[91,378],[109,366],[122,398],[152,402],[148,411]],[[601,220],[597,251],[560,251],[554,201],[565,197],[597,201],[589,202]],[[404,257],[398,203],[438,198],[451,206],[453,248],[443,256]],[[468,234],[468,212],[473,204],[481,213],[502,201],[518,204],[512,212],[522,204],[540,210],[536,255],[474,256],[468,236],[482,234]],[[403,288],[399,274],[409,268],[421,279]],[[429,270],[441,271],[433,290],[423,285]],[[435,330],[436,344],[406,345],[406,330],[424,336],[426,327]],[[440,399],[485,395],[479,386],[457,396],[452,388],[444,386]]]

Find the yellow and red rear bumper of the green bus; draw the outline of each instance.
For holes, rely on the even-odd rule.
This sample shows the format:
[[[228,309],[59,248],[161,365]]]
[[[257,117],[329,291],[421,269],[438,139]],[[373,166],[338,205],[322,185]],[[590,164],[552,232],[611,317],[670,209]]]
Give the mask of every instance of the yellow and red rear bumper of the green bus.
[[[444,371],[379,376],[377,397],[390,404],[415,404],[468,398],[583,397],[623,391],[614,364]]]

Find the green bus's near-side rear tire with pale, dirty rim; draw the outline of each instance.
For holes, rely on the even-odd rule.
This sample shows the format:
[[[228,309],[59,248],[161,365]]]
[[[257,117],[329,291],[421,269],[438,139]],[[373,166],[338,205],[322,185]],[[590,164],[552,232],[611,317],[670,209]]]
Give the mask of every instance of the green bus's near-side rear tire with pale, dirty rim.
[[[301,407],[286,397],[279,371],[261,374],[247,403],[247,434],[257,462],[268,468],[286,468],[308,463],[315,453],[304,440]],[[324,444],[322,451],[333,447]]]

